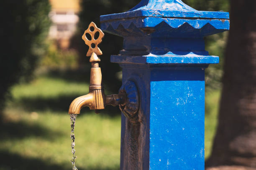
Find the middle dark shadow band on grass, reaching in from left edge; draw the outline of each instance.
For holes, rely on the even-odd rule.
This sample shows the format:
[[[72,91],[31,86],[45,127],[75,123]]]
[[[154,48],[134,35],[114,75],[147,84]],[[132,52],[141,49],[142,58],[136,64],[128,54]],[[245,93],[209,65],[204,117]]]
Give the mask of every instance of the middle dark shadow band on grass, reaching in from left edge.
[[[14,140],[36,136],[53,141],[64,134],[37,124],[28,124],[27,122],[1,122],[0,135],[0,140]]]

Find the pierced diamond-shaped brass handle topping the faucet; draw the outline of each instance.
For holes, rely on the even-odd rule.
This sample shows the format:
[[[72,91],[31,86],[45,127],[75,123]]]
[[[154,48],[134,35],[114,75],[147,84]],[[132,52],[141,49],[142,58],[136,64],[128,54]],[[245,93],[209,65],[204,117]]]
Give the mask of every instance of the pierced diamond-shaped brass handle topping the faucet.
[[[85,44],[89,46],[89,50],[86,56],[90,57],[93,52],[96,55],[102,55],[102,51],[98,47],[98,45],[102,42],[102,38],[104,37],[104,33],[100,28],[97,28],[96,24],[91,22],[89,28],[84,31],[82,35],[82,39]]]

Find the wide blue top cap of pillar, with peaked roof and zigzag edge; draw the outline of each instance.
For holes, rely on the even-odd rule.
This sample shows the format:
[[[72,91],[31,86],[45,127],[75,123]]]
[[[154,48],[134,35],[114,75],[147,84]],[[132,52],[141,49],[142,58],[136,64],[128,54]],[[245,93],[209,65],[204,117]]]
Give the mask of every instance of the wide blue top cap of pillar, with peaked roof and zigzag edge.
[[[229,30],[229,13],[197,11],[181,0],[142,0],[130,11],[102,15],[100,21],[102,30],[123,37],[132,35],[131,30],[141,33],[143,28],[157,29],[161,24],[166,25],[168,31],[164,32],[171,37],[177,32],[204,37]]]

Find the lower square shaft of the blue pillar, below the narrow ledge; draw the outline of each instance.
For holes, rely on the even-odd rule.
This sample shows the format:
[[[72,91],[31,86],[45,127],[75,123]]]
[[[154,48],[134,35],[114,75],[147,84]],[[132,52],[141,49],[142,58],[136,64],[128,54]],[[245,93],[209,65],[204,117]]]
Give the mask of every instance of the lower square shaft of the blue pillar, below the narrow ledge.
[[[120,66],[140,96],[140,124],[122,116],[120,169],[204,170],[207,64]]]

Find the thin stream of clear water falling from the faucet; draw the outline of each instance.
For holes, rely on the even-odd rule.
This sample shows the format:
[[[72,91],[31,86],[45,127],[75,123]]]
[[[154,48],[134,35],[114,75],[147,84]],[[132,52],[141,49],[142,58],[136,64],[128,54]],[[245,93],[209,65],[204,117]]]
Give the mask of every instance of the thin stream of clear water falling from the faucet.
[[[73,154],[73,157],[71,159],[71,163],[72,163],[72,170],[78,170],[76,165],[75,165],[75,160],[76,160],[76,155],[75,155],[75,152],[76,150],[74,149],[74,140],[75,140],[75,137],[74,137],[74,126],[75,126],[75,123],[76,123],[76,118],[77,118],[77,115],[76,114],[71,114],[70,115],[70,120],[71,120],[71,134],[70,134],[70,138],[71,138],[71,149],[72,149],[72,154]]]

